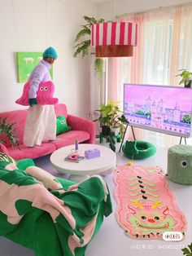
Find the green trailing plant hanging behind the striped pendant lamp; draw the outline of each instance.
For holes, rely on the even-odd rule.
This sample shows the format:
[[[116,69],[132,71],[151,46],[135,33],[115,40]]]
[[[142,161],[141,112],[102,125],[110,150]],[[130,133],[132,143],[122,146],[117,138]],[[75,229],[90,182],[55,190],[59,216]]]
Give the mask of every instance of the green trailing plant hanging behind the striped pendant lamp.
[[[81,25],[81,30],[76,35],[75,42],[78,42],[76,46],[73,48],[76,50],[73,54],[74,57],[77,55],[82,55],[82,57],[85,57],[85,55],[91,54],[90,48],[90,33],[91,33],[91,25],[96,23],[103,23],[105,20],[99,19],[96,20],[93,17],[89,17],[84,15],[84,20],[86,21],[86,24]],[[98,75],[98,79],[101,80],[103,76],[103,59],[102,58],[96,58],[94,60],[94,72]]]

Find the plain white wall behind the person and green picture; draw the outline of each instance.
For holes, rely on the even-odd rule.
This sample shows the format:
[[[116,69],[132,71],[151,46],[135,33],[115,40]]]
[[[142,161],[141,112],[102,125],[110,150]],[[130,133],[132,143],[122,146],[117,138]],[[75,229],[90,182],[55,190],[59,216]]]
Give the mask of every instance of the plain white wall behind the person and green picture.
[[[55,97],[68,112],[89,112],[89,58],[74,58],[76,33],[83,15],[95,16],[96,6],[83,0],[0,0],[0,112],[24,108],[15,104],[24,83],[17,82],[15,52],[44,51],[53,46]]]

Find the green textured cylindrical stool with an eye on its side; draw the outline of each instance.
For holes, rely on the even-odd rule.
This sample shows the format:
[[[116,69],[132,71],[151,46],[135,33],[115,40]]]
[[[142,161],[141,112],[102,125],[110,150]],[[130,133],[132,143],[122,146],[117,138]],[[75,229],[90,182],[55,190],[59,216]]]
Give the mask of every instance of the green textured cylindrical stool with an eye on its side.
[[[192,184],[192,146],[175,145],[168,149],[168,179],[184,185]]]

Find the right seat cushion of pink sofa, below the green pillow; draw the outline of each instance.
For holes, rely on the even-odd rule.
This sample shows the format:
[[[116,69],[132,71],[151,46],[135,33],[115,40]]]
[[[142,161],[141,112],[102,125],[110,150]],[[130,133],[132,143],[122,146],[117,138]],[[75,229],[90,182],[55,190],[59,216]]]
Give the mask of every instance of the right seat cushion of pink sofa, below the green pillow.
[[[58,135],[57,139],[59,140],[51,141],[51,143],[53,143],[57,149],[63,148],[68,145],[73,145],[74,143],[75,148],[76,138],[78,138],[79,143],[81,143],[85,140],[88,140],[90,138],[90,135],[89,132],[84,130],[70,130],[67,133]]]

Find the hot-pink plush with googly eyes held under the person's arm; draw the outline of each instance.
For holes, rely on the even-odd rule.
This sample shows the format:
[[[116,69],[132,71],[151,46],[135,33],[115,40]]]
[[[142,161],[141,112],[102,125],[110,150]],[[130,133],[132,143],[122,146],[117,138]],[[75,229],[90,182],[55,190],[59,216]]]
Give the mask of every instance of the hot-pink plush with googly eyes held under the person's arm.
[[[23,94],[19,99],[16,99],[15,103],[23,106],[29,105],[28,91],[30,82],[26,82],[24,85]],[[37,90],[37,104],[40,105],[53,105],[58,104],[58,99],[54,98],[55,85],[53,82],[41,82]]]

